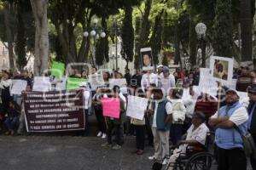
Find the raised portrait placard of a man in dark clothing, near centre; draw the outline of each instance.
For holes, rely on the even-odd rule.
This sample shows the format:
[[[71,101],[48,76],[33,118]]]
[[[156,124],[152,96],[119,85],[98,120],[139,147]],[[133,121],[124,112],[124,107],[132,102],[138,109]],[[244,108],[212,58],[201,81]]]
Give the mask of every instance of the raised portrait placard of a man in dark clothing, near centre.
[[[152,49],[141,48],[143,71],[154,70]]]

